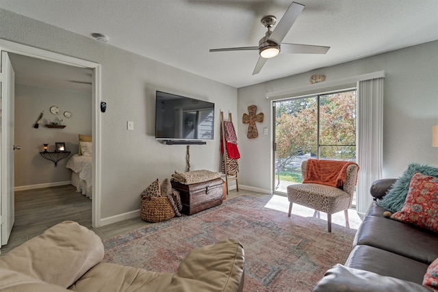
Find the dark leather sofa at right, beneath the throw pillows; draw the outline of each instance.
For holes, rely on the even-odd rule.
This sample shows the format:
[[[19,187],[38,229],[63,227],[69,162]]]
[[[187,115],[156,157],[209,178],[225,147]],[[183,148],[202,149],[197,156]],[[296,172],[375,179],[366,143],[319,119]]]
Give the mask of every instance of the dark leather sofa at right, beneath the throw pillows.
[[[374,201],[357,230],[345,265],[335,265],[313,288],[329,291],[432,291],[422,286],[430,263],[438,258],[438,234],[391,220],[376,204],[396,180],[375,181]]]

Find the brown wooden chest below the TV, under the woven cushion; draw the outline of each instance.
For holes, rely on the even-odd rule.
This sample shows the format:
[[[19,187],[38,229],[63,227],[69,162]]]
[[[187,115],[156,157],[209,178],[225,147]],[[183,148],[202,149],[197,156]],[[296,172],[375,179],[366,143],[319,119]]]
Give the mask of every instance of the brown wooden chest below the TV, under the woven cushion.
[[[222,204],[224,197],[224,181],[222,181],[222,178],[192,185],[184,185],[177,181],[171,181],[171,183],[172,187],[179,191],[183,204],[181,213],[185,215],[192,215]]]

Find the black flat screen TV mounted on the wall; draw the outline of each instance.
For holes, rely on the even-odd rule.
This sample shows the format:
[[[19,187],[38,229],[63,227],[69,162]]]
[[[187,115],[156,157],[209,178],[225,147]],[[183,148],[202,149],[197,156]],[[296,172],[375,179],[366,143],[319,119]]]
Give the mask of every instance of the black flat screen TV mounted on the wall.
[[[214,103],[157,91],[155,139],[202,141],[214,137]]]

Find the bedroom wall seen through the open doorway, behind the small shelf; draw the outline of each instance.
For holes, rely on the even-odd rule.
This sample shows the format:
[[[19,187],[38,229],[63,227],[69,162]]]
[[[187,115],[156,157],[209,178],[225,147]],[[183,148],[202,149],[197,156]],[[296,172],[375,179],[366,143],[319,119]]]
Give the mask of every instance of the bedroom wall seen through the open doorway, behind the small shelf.
[[[61,109],[57,116],[50,113],[52,105]],[[44,116],[38,129],[34,124],[41,111]],[[65,118],[64,111],[71,111],[72,118]],[[47,120],[64,120],[64,129],[47,128]],[[55,150],[55,142],[65,142],[71,155],[77,153],[78,133],[91,135],[91,94],[54,90],[29,85],[15,85],[15,144],[21,150],[14,152],[15,187],[38,187],[47,183],[70,181],[71,171],[65,165],[67,159],[57,163],[43,159],[39,152],[42,144]],[[70,155],[70,157],[71,157]]]

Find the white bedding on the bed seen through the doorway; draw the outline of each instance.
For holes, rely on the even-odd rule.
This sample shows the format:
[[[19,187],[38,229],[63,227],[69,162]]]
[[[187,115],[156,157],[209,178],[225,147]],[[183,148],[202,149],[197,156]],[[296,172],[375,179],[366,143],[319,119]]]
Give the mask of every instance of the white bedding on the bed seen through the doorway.
[[[91,198],[92,157],[75,154],[68,159],[66,168],[70,168],[74,172],[72,174],[72,185],[76,187],[77,191],[81,191],[82,194]],[[78,181],[78,176],[81,181]]]

